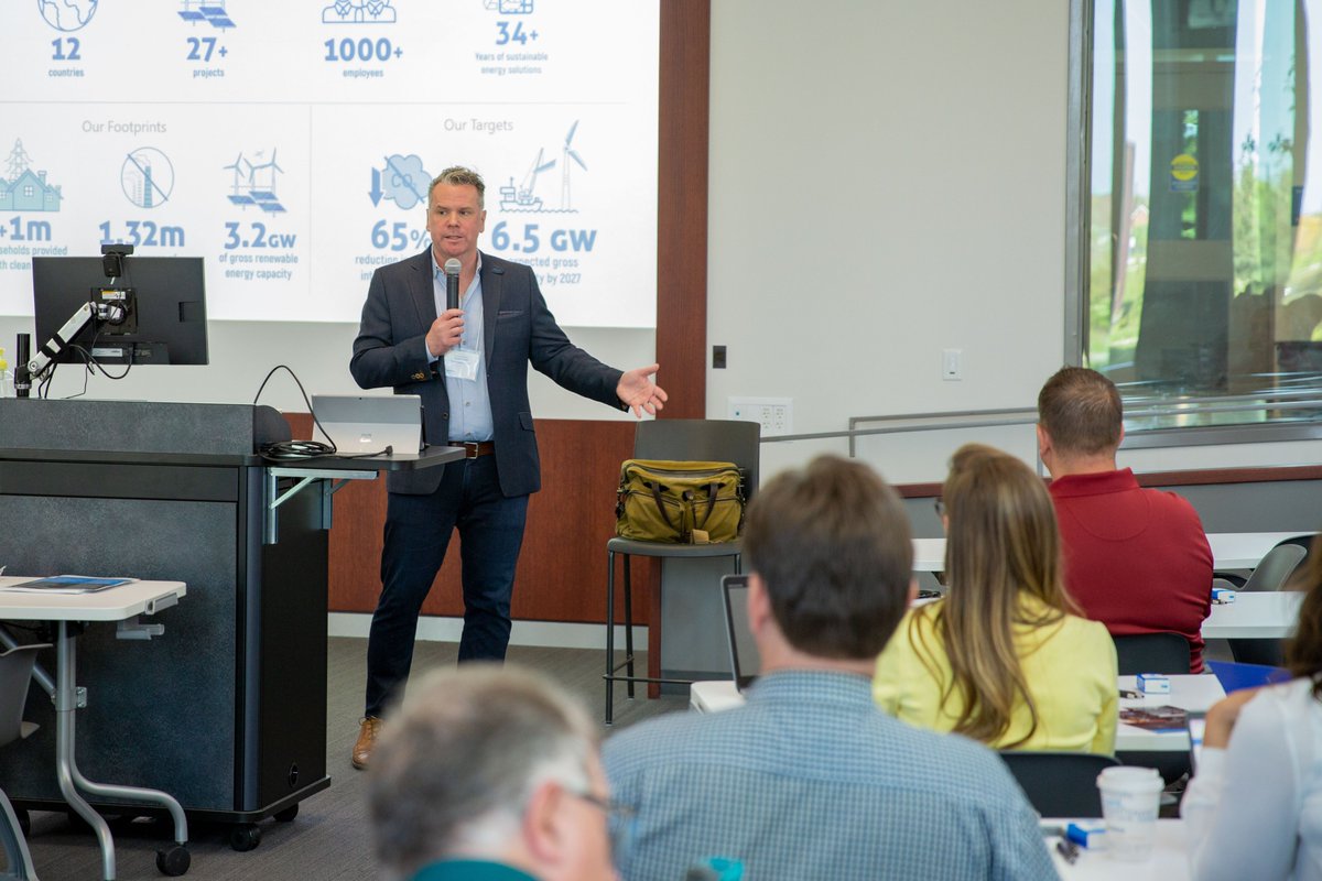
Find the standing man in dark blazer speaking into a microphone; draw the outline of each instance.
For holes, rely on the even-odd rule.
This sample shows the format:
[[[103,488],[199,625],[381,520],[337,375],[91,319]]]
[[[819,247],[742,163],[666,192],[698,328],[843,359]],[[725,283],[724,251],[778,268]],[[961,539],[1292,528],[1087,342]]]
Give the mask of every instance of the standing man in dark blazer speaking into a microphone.
[[[430,442],[463,446],[442,468],[387,477],[381,598],[368,638],[366,708],[353,748],[365,767],[386,703],[408,678],[418,613],[459,530],[464,631],[459,660],[500,660],[509,643],[514,568],[527,497],[541,487],[527,365],[611,407],[656,413],[657,365],[621,372],[564,335],[533,271],[477,250],[483,178],[447,168],[427,194],[427,251],[371,276],[349,371],[362,388],[420,395]],[[446,308],[446,264],[459,260],[459,304]],[[451,264],[453,267],[453,264]]]

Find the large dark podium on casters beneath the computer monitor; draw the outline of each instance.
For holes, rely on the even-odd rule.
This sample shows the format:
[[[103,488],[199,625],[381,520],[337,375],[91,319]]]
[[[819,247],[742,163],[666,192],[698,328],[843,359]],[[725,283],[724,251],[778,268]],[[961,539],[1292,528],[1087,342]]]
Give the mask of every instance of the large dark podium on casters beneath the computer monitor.
[[[255,847],[256,820],[292,819],[330,785],[327,478],[344,476],[333,466],[357,477],[390,466],[270,468],[254,454],[288,436],[268,407],[0,399],[0,565],[188,585],[159,639],[114,645],[111,627],[81,637],[83,770],[238,824],[237,849]],[[423,457],[455,457],[438,453]],[[311,479],[291,476],[299,465]],[[40,688],[25,719],[42,728],[0,750],[0,779],[20,806],[63,810]]]

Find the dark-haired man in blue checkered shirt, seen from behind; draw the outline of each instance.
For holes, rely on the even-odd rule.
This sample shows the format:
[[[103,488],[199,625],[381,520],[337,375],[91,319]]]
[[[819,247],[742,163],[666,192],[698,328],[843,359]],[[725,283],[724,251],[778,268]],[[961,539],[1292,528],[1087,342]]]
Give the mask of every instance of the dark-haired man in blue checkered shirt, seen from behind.
[[[876,655],[914,597],[908,519],[869,466],[820,457],[750,505],[748,621],[761,676],[744,707],[676,713],[604,748],[632,828],[625,881],[709,857],[744,877],[1055,878],[1001,759],[873,703]]]

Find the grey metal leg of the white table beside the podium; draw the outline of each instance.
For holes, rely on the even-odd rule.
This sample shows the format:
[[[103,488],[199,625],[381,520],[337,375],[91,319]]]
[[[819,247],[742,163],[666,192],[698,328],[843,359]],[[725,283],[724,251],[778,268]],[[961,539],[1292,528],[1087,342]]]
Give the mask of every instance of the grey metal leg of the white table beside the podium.
[[[184,808],[178,800],[168,793],[137,786],[94,783],[78,770],[78,762],[74,756],[74,712],[78,709],[77,686],[74,684],[77,655],[74,637],[69,635],[67,627],[67,622],[59,622],[59,639],[56,646],[56,678],[58,680],[56,688],[56,766],[59,775],[59,791],[70,807],[87,820],[97,832],[97,837],[100,841],[102,866],[106,881],[114,881],[115,843],[110,836],[110,827],[106,826],[106,820],[83,799],[79,790],[99,798],[145,802],[164,807],[169,811],[171,819],[175,820],[175,844],[178,847],[188,844],[188,819],[184,816]]]

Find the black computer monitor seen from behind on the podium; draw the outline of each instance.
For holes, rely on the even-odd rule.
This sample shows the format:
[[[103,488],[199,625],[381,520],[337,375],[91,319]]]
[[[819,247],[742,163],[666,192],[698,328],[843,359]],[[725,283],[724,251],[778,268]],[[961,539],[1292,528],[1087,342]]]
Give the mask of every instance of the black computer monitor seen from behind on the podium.
[[[106,276],[102,258],[33,258],[33,354],[89,301],[118,304],[112,320],[93,318],[56,363],[205,365],[206,284],[202,258],[123,258]],[[127,304],[127,314],[120,309]]]

